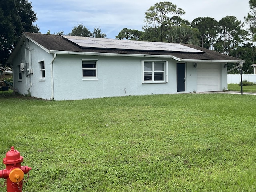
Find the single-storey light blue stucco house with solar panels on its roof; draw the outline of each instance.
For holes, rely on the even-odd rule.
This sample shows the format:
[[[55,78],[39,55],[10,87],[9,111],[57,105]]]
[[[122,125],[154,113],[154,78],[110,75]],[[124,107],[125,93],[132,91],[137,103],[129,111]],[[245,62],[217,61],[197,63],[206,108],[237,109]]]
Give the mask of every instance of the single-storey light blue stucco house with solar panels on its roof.
[[[55,100],[227,89],[226,63],[243,60],[191,44],[22,34],[14,88]]]

